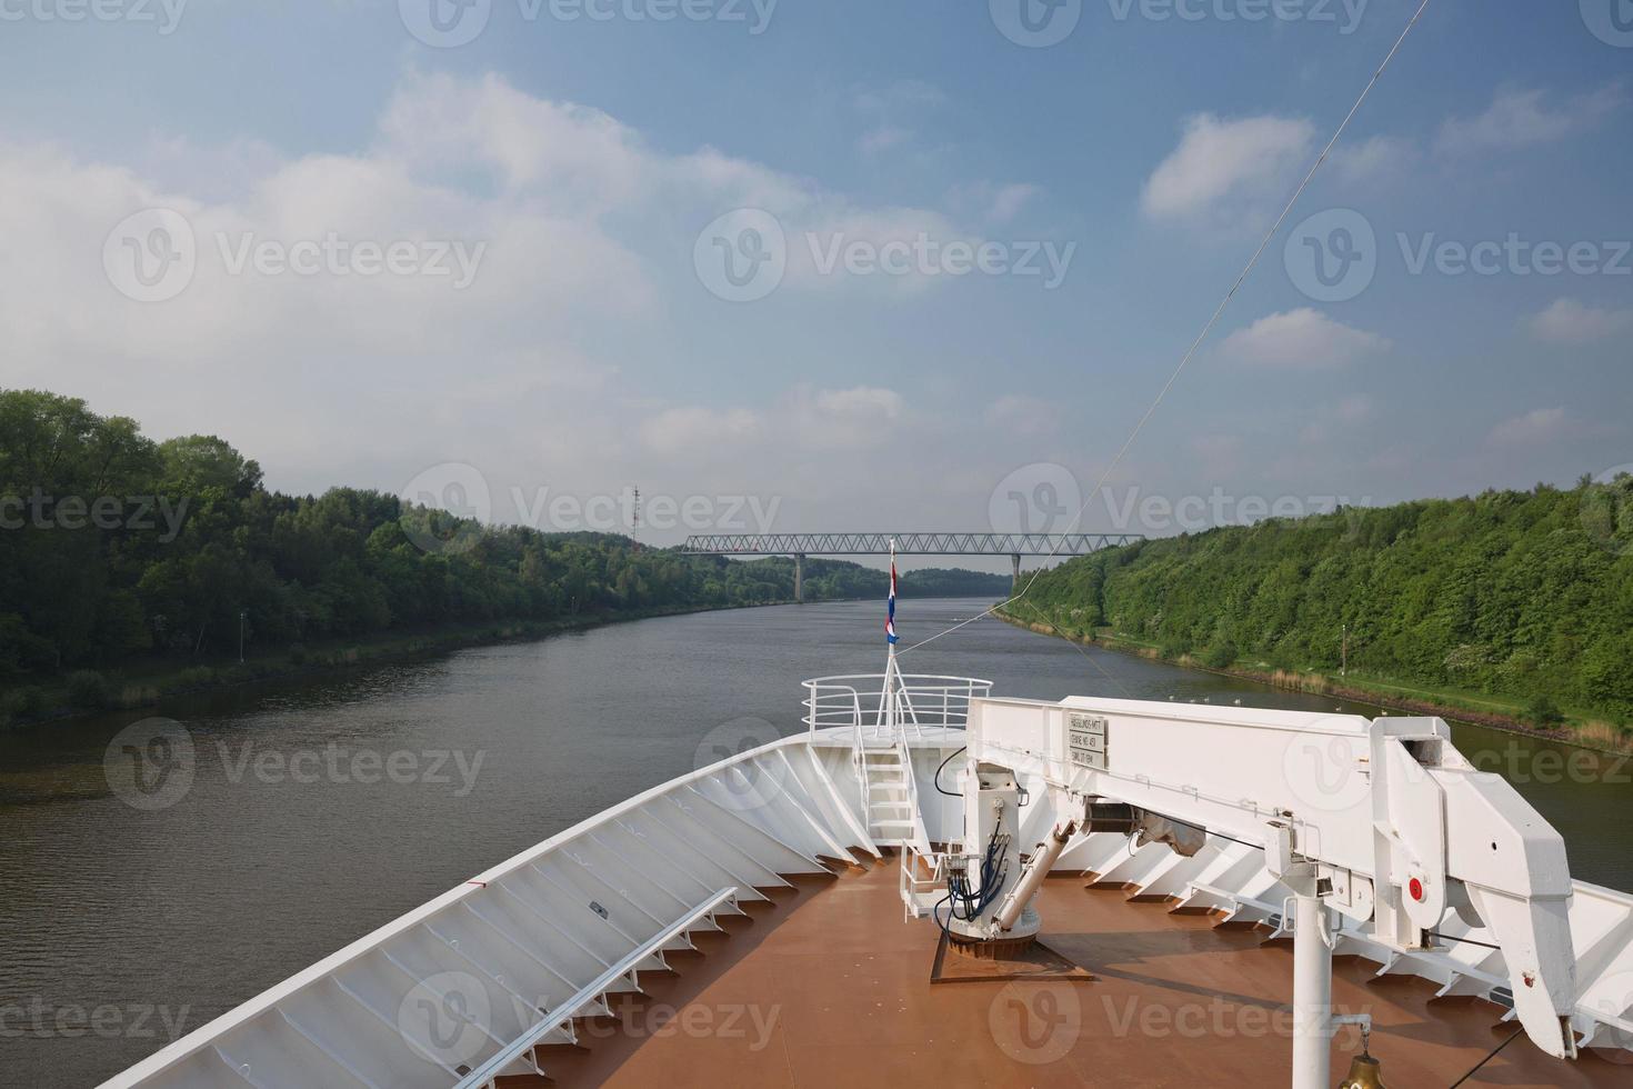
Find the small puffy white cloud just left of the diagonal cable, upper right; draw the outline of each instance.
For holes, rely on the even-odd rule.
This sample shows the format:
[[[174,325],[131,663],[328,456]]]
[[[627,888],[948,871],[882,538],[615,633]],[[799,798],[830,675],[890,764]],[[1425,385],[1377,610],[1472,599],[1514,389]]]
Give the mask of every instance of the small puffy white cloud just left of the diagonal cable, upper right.
[[[1259,214],[1287,196],[1290,175],[1310,162],[1313,145],[1315,126],[1303,119],[1199,114],[1145,183],[1140,204],[1158,220]]]

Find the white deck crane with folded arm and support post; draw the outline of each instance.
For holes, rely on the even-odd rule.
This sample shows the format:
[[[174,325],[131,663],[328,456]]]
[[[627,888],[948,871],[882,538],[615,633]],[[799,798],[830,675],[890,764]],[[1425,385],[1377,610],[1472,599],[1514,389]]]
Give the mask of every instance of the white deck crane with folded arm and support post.
[[[1030,803],[1055,813],[1037,844],[1012,834],[1021,779],[1047,784]],[[1512,785],[1476,771],[1440,718],[978,699],[963,782],[970,854],[955,870],[978,911],[955,939],[1034,932],[1035,893],[1081,833],[1133,831],[1195,854],[1207,829],[1262,846],[1292,893],[1293,1089],[1333,1084],[1331,913],[1401,953],[1432,947],[1450,913],[1479,921],[1527,1035],[1576,1056],[1564,841]],[[988,857],[994,842],[1004,857]],[[980,888],[983,873],[994,888]]]

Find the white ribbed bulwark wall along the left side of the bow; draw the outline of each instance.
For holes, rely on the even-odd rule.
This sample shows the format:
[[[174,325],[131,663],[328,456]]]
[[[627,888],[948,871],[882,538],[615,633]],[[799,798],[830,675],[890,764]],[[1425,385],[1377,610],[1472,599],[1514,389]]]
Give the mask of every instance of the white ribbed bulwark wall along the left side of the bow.
[[[745,807],[738,779],[743,771],[753,782],[790,785],[768,790],[759,805]],[[509,1012],[521,996],[558,998],[560,1002],[547,999],[549,1017],[596,1009],[585,998],[604,993],[609,981],[621,986],[614,970],[622,978],[630,963],[639,967],[632,960],[637,947],[650,960],[674,940],[666,936],[691,931],[694,924],[705,929],[701,921],[710,913],[741,914],[738,901],[766,901],[759,888],[789,887],[784,875],[831,873],[821,857],[854,860],[841,846],[857,831],[844,813],[848,803],[828,777],[818,746],[803,738],[738,753],[619,802],[477,873],[170,1043],[101,1089],[201,1084],[446,1089],[462,1074],[456,1073],[456,1063],[436,1060],[436,1048],[428,1061],[421,1047],[425,1025],[415,1027],[412,1011],[421,996],[438,999],[446,989],[436,981],[444,971],[436,965],[456,944],[454,955],[464,962],[456,970],[464,989],[456,988],[456,994],[487,994],[477,1006],[487,1016],[474,1020],[464,1016],[459,1022],[461,1050],[474,1038],[477,1053],[470,1061],[477,1065],[488,1050],[500,1048],[503,1037],[529,1030],[516,1024],[526,1011]],[[772,813],[781,816],[772,821]],[[696,906],[683,905],[676,893],[655,883],[643,862],[658,852],[668,857],[668,865],[687,873],[692,885],[717,888],[709,875],[722,872],[722,851],[730,852],[741,885],[733,885],[736,891],[725,900],[712,893]],[[513,913],[521,922],[506,921]],[[678,922],[663,924],[678,914]],[[532,919],[547,927],[537,929]],[[529,1001],[527,1007],[532,1006]],[[452,1011],[444,1009],[439,1017],[444,1016]],[[310,1025],[325,1030],[312,1033]],[[447,1022],[438,1025],[446,1029]],[[558,1030],[570,1032],[565,1025]],[[314,1043],[310,1053],[289,1051],[289,1032],[309,1040],[317,1035],[322,1043]],[[521,1056],[518,1048],[511,1069],[524,1066]],[[255,1058],[253,1076],[250,1058]],[[327,1076],[318,1073],[325,1063],[333,1066]],[[405,1071],[423,1076],[405,1079]]]

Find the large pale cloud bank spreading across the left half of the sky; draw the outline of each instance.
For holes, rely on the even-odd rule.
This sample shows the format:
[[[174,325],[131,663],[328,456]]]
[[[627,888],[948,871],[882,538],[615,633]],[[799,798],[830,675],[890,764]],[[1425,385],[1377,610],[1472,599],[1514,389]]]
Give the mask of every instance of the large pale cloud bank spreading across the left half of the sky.
[[[496,77],[407,75],[377,132],[346,153],[162,139],[101,163],[0,139],[0,385],[90,395],[158,438],[219,433],[273,487],[300,491],[395,490],[465,462],[490,473],[496,503],[513,482],[684,493],[707,480],[730,493],[790,488],[782,480],[815,472],[821,451],[834,475],[802,487],[854,495],[877,477],[869,451],[908,442],[911,413],[892,390],[833,384],[701,408],[643,392],[694,362],[673,312],[710,305],[692,273],[696,232],[743,206],[785,224],[790,258],[807,230],[970,233],[712,149],[658,152],[606,113]],[[103,243],[149,207],[186,219],[198,269],[180,296],[139,304],[109,282]],[[412,276],[232,274],[217,235],[487,250],[456,292]],[[828,279],[900,294],[898,278]],[[782,292],[813,281],[792,260]]]

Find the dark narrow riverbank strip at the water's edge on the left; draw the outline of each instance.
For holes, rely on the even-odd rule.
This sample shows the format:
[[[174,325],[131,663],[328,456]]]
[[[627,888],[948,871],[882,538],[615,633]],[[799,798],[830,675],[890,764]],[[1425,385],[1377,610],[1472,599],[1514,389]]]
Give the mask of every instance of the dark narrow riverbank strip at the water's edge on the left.
[[[188,665],[150,661],[109,671],[80,669],[51,678],[41,684],[0,687],[0,730],[15,730],[51,722],[78,718],[108,710],[154,707],[176,696],[198,696],[217,689],[320,678],[359,666],[392,665],[418,658],[434,658],[470,647],[524,643],[567,632],[583,632],[609,624],[650,620],[694,612],[732,612],[789,606],[789,601],[756,601],[728,606],[681,606],[634,609],[616,614],[585,614],[555,620],[493,620],[457,624],[423,630],[400,630],[372,638],[327,640],[287,647],[278,651],[248,653],[237,660],[194,661]]]

